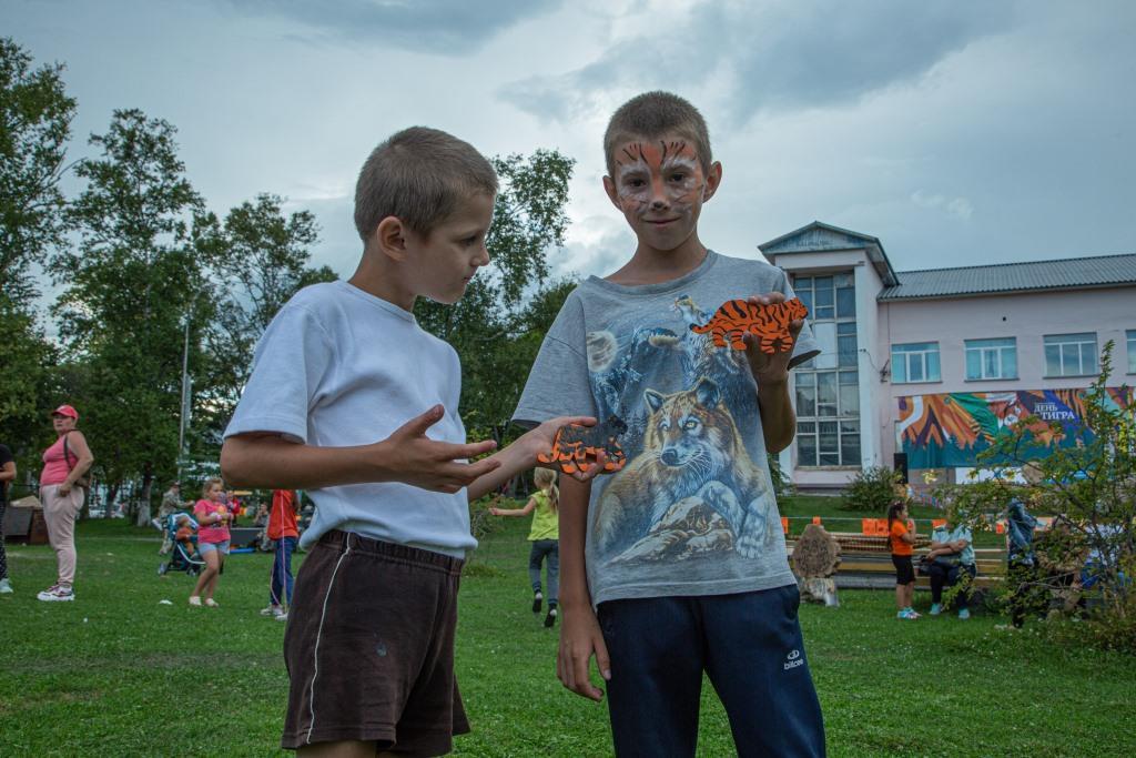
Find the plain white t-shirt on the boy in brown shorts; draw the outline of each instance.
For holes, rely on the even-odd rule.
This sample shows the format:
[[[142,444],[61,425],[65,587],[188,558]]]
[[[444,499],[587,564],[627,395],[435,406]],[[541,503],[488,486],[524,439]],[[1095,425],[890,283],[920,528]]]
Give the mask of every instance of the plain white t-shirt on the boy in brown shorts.
[[[441,403],[445,414],[427,436],[463,443],[460,394],[458,353],[412,314],[346,282],[315,284],[265,331],[225,436],[278,432],[321,448],[369,444]],[[382,482],[308,494],[316,514],[303,547],[333,528],[456,557],[477,547],[465,490]]]

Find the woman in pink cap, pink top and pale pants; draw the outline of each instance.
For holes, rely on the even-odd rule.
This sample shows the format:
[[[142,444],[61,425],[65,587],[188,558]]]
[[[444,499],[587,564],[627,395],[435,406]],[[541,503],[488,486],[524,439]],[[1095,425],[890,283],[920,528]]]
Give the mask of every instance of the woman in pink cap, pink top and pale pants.
[[[51,411],[51,424],[59,436],[43,451],[40,500],[48,524],[48,540],[59,564],[59,580],[36,595],[48,602],[75,599],[75,519],[85,494],[75,483],[94,463],[86,438],[75,428],[77,422],[78,411],[70,406],[59,406]]]

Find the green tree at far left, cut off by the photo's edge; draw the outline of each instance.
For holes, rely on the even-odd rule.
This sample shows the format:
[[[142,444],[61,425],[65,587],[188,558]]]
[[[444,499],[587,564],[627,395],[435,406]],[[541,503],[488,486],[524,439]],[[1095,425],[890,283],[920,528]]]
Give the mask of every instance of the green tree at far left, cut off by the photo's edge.
[[[32,57],[0,38],[0,298],[37,295],[28,270],[62,241],[59,191],[75,116],[61,65],[31,69]]]

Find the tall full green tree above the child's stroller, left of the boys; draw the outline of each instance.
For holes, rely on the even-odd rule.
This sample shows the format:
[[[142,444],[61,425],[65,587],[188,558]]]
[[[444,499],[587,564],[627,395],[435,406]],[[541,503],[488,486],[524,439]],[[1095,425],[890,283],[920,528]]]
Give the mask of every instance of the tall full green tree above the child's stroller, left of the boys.
[[[141,478],[140,520],[154,477],[172,475],[177,457],[183,319],[192,313],[199,333],[211,317],[187,232],[202,202],[175,133],[140,110],[116,110],[106,134],[91,136],[101,155],[76,167],[86,188],[68,209],[78,248],[55,266],[66,289],[53,310],[78,372],[95,474],[111,497]]]

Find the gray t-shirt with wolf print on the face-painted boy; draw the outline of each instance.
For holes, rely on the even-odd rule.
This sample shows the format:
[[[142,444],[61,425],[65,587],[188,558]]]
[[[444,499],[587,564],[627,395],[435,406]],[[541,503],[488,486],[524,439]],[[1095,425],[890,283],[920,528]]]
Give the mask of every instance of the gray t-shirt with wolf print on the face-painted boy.
[[[592,483],[593,603],[794,583],[745,353],[691,331],[725,301],[766,292],[793,297],[779,268],[710,251],[659,284],[590,277],[549,330],[513,420],[617,416],[627,426],[626,466]],[[818,352],[805,324],[791,365]]]

